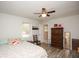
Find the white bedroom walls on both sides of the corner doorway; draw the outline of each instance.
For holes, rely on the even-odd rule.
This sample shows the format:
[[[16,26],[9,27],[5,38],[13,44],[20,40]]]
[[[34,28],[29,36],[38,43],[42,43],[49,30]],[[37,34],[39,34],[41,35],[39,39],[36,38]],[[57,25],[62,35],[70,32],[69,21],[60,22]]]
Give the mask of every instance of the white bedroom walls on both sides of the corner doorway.
[[[38,21],[23,18],[14,15],[8,15],[0,13],[0,39],[8,39],[11,37],[21,37],[21,26],[23,22],[27,22],[30,25],[30,38],[32,40],[32,26],[39,27],[39,40],[44,42],[43,39],[43,24],[39,24]],[[79,39],[79,15],[63,17],[58,19],[52,19],[48,21],[48,43],[51,41],[51,27],[54,24],[62,24],[64,31],[71,32],[72,38]]]

